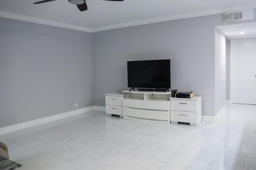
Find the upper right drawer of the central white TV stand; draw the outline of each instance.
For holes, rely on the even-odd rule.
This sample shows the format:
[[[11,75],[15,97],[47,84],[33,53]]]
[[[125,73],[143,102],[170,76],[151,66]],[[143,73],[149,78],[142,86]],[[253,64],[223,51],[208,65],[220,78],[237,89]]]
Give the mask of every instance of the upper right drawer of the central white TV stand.
[[[169,101],[144,101],[144,109],[170,110]]]

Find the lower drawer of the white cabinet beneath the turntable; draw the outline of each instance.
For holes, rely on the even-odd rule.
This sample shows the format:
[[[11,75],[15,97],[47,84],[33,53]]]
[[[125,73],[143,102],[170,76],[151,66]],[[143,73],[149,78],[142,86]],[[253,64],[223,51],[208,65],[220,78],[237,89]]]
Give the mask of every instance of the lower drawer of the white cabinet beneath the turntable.
[[[197,113],[189,111],[170,111],[171,121],[185,122],[185,123],[196,123]]]

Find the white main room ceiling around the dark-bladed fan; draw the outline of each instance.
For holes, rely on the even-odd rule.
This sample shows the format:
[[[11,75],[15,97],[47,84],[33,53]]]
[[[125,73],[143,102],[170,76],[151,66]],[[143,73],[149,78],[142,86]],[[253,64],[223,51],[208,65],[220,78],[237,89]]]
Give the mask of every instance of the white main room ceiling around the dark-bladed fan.
[[[44,19],[38,23],[56,21],[97,31],[256,8],[255,0],[86,0],[88,10],[80,12],[68,0],[33,4],[37,1],[40,0],[0,0],[0,16],[21,20],[28,16],[30,20]]]

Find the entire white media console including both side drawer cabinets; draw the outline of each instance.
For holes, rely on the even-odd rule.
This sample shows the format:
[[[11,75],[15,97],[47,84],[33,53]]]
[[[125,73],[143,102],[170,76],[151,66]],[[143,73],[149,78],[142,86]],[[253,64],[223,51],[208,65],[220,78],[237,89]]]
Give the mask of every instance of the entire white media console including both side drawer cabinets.
[[[202,97],[171,98],[171,92],[129,91],[105,95],[106,114],[124,119],[197,126],[202,119]]]

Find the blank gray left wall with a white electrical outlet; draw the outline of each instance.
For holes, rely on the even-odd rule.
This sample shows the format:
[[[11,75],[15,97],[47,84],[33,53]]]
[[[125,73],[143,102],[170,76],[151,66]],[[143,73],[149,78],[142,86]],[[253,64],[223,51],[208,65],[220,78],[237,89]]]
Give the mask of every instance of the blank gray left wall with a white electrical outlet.
[[[92,80],[90,33],[0,18],[0,127],[92,106]]]

